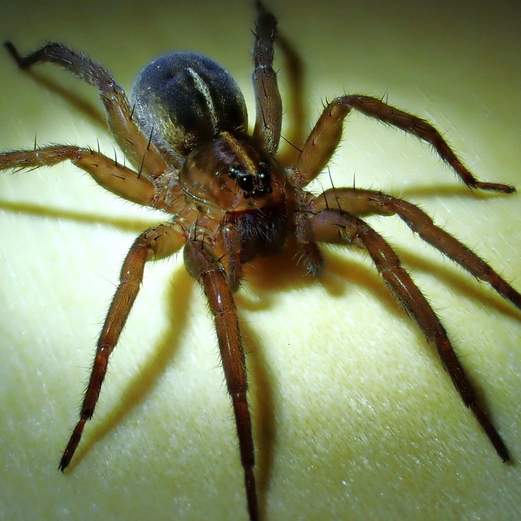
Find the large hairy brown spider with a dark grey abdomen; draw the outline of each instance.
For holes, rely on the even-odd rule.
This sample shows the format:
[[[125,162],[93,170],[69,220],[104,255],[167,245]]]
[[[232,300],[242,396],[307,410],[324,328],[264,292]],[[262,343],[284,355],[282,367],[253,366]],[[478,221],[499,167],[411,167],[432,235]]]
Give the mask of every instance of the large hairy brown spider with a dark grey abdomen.
[[[92,418],[109,356],[138,294],[145,263],[183,248],[185,265],[201,284],[214,316],[237,425],[247,508],[250,519],[258,519],[244,350],[233,293],[240,288],[245,263],[258,255],[280,252],[291,238],[299,244],[303,263],[315,277],[323,264],[318,243],[352,245],[368,252],[396,299],[426,338],[436,344],[464,404],[506,461],[508,450],[476,400],[436,313],[389,244],[362,217],[396,214],[422,239],[470,274],[489,282],[518,308],[521,295],[417,206],[376,190],[332,188],[314,195],[306,187],[327,166],[340,142],[343,121],[352,110],[430,143],[470,189],[512,193],[513,187],[478,181],[430,123],[365,95],[344,95],[327,103],[294,162],[289,164],[284,156],[277,156],[282,103],[272,68],[276,20],[261,5],[258,11],[252,136],[246,133],[246,107],[238,85],[203,56],[172,53],[154,60],[141,72],[129,102],[104,68],[63,45],[47,44],[20,57],[13,44],[6,44],[21,68],[51,62],[96,86],[109,128],[133,169],[99,151],[66,145],[1,154],[0,169],[32,169],[70,160],[116,195],[171,216],[168,224],[139,235],[123,262],[80,419],[59,468],[69,465],[86,421]]]

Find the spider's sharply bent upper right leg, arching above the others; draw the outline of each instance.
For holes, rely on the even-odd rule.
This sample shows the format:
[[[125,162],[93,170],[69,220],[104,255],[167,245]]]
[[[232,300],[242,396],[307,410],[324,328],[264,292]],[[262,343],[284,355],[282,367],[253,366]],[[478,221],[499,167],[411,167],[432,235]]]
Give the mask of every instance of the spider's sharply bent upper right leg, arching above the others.
[[[294,184],[304,187],[327,165],[342,137],[344,118],[353,108],[363,112],[366,116],[389,123],[389,125],[431,143],[440,157],[455,170],[468,188],[505,193],[515,192],[515,188],[508,184],[478,181],[456,156],[438,130],[425,119],[388,105],[379,98],[358,94],[338,97],[325,107],[297,158],[292,180]]]

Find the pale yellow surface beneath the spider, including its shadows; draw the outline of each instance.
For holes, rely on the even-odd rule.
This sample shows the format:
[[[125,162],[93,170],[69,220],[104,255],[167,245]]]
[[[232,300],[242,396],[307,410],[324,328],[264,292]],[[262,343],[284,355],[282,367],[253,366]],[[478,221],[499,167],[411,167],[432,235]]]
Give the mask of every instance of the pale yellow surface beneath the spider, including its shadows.
[[[481,179],[521,187],[519,9],[419,5],[276,8],[305,58],[310,121],[321,97],[344,88],[388,92],[433,121]],[[207,54],[239,81],[252,123],[250,28],[253,8],[240,2],[9,3],[0,18],[0,38],[21,51],[63,41],[128,92],[168,49]],[[36,133],[39,144],[97,138],[113,155],[103,123],[56,92],[95,104],[95,91],[36,73],[0,52],[0,149],[32,147]],[[331,175],[351,185],[355,173],[358,186],[420,203],[521,287],[518,194],[472,194],[428,147],[350,116]],[[164,216],[67,164],[3,173],[0,219],[0,519],[246,519],[212,321],[180,256],[146,268],[95,417],[66,475],[57,470],[120,263]],[[256,282],[237,299],[264,519],[518,519],[521,313],[398,219],[371,222],[438,309],[513,462],[495,455],[369,259],[328,251],[319,282],[279,259],[267,276],[250,270]]]

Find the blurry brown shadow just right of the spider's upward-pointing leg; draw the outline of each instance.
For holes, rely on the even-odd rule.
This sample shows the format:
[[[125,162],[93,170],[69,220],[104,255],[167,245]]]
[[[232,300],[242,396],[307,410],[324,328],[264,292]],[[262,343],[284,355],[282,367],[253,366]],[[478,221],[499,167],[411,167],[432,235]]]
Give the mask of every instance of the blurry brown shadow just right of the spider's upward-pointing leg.
[[[289,101],[286,114],[289,113],[289,127],[286,135],[281,136],[286,143],[277,159],[283,166],[290,166],[296,160],[305,139],[307,111],[304,98],[304,64],[299,53],[282,34],[276,34],[275,43],[282,51],[285,69],[288,73]]]

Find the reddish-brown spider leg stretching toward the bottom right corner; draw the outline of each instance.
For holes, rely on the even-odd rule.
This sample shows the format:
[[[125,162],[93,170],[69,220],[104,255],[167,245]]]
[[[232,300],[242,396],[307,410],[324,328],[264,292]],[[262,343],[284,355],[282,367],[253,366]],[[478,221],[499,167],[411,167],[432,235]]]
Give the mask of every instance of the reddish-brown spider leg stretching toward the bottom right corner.
[[[400,259],[391,246],[363,220],[336,210],[322,210],[311,221],[317,240],[354,244],[367,250],[396,299],[408,315],[416,320],[427,340],[436,344],[443,366],[449,371],[463,403],[472,409],[499,456],[503,461],[508,460],[508,449],[479,406],[474,389],[454,353],[445,328],[423,293],[400,265]]]

